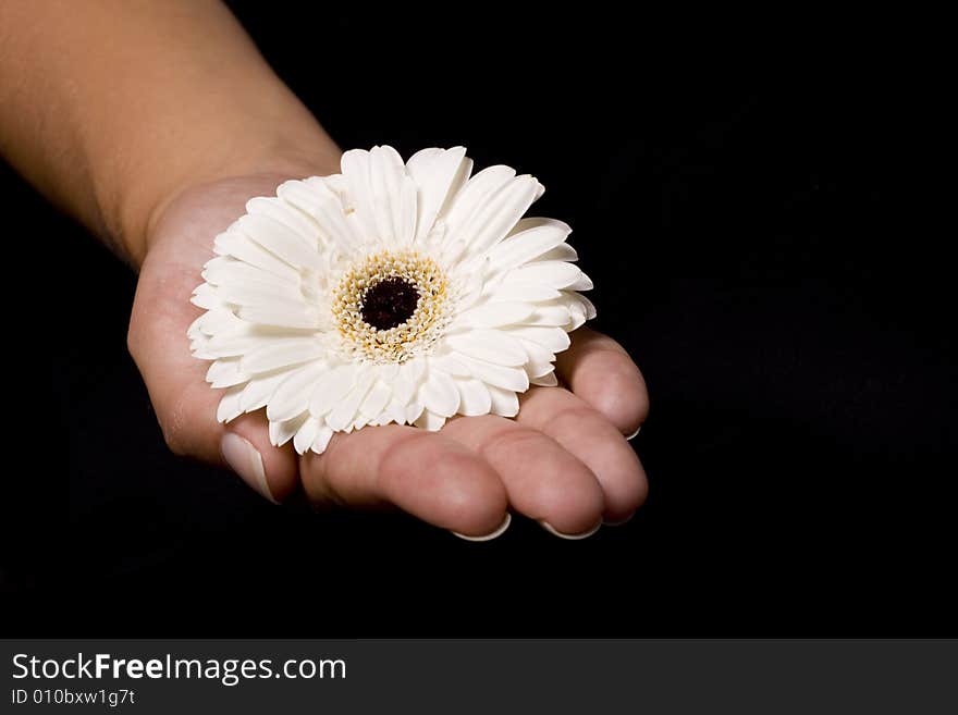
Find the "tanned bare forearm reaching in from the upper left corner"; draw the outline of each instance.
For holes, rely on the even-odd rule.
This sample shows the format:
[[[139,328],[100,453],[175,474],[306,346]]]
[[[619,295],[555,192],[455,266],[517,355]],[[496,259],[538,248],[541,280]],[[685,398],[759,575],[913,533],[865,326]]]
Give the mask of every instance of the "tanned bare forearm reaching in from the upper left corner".
[[[184,188],[339,150],[216,0],[0,5],[0,152],[134,264]]]

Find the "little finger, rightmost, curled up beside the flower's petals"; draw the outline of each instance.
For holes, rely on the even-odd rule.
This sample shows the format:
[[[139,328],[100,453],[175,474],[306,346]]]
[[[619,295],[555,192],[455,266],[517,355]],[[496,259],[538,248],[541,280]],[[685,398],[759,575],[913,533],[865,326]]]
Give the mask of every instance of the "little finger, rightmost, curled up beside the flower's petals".
[[[634,434],[649,414],[649,394],[639,368],[614,340],[588,328],[572,334],[556,359],[572,391],[602,412],[623,434]]]

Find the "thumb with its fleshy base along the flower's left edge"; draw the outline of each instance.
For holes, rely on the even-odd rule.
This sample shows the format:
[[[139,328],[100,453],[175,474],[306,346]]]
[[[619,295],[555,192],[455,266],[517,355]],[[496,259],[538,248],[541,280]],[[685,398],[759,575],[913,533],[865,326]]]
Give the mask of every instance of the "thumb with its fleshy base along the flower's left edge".
[[[229,468],[266,498],[282,502],[298,484],[292,447],[278,449],[270,444],[262,411],[228,424],[217,421],[223,391],[206,383],[209,365],[189,355],[186,338],[186,328],[197,311],[188,295],[182,301],[158,305],[153,288],[145,270],[127,340],[167,444],[176,454]]]

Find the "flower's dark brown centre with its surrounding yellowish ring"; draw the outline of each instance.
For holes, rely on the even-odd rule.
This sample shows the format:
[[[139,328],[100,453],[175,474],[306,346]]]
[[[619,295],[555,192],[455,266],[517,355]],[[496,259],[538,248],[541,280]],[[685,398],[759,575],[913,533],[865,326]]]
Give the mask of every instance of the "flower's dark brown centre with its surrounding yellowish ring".
[[[344,357],[405,362],[428,350],[452,319],[445,273],[415,250],[384,250],[349,266],[332,293]]]

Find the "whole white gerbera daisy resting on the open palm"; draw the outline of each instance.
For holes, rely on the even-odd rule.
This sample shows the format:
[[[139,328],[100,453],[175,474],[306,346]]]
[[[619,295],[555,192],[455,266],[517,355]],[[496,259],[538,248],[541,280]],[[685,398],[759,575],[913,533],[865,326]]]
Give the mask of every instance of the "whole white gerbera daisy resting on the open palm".
[[[216,238],[193,303],[194,356],[225,387],[218,418],[267,409],[272,443],[453,415],[514,417],[554,385],[566,334],[594,317],[570,229],[521,219],[544,190],[462,147],[347,151],[342,174],[288,181]]]

